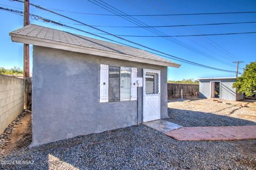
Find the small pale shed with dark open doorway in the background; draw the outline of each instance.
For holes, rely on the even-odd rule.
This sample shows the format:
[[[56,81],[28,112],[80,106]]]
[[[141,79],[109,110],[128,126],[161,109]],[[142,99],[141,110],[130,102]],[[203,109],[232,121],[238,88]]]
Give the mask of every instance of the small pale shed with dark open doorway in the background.
[[[198,80],[200,98],[217,98],[231,101],[244,99],[244,95],[237,93],[236,88],[232,87],[233,83],[236,82],[236,77],[198,78]]]

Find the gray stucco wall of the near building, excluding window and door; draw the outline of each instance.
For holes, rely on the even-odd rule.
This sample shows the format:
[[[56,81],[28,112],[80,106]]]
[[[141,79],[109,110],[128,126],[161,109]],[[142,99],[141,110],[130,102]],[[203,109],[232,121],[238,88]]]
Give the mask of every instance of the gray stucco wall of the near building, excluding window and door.
[[[137,124],[137,101],[99,103],[100,64],[161,70],[161,118],[167,114],[167,67],[33,46],[33,143]],[[142,119],[142,87],[138,112]]]

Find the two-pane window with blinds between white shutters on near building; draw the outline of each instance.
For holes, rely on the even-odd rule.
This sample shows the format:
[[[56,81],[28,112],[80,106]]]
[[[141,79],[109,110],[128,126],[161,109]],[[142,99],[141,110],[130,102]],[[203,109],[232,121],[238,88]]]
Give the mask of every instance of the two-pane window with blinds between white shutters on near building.
[[[109,66],[108,101],[131,99],[131,68]]]

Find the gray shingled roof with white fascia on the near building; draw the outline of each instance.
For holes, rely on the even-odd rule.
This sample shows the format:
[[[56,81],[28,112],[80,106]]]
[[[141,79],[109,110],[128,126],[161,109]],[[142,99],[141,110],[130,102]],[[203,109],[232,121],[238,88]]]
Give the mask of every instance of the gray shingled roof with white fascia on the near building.
[[[106,56],[122,60],[180,67],[180,64],[166,60],[155,54],[125,45],[109,43],[82,35],[68,33],[38,25],[28,25],[10,33],[12,41],[59,48],[62,50]]]

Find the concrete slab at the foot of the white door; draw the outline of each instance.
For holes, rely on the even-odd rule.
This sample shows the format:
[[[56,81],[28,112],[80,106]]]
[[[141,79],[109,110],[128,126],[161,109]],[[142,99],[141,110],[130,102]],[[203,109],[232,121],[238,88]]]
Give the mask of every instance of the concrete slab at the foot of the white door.
[[[150,121],[150,122],[144,122],[142,124],[144,124],[146,126],[149,126],[151,128],[154,128],[157,131],[160,131],[160,132],[163,132],[163,133],[173,131],[174,129],[182,127],[180,125],[168,122],[168,121],[163,120],[163,119],[153,120],[153,121]]]

